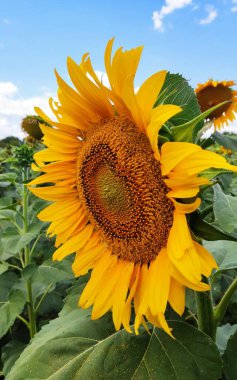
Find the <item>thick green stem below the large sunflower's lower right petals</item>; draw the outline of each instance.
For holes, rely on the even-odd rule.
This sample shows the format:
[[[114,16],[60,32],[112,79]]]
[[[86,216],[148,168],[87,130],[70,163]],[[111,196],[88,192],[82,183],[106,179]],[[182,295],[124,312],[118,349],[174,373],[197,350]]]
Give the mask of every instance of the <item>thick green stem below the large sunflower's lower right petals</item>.
[[[203,282],[208,283],[208,279]],[[209,335],[213,341],[216,339],[216,321],[214,318],[214,307],[210,291],[195,292],[197,305],[198,329]]]

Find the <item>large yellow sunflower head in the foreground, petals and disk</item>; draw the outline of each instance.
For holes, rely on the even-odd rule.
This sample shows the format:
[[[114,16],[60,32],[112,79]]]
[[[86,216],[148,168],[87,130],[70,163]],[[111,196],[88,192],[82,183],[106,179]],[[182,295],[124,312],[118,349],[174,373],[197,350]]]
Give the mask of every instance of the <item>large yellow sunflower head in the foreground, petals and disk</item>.
[[[75,89],[56,72],[59,102],[49,103],[57,121],[37,109],[53,128],[42,126],[47,148],[35,154],[34,169],[44,174],[31,182],[31,191],[53,202],[38,215],[56,235],[53,259],[76,253],[75,276],[91,270],[79,305],[93,305],[92,319],[112,310],[115,328],[131,332],[134,305],[136,333],[149,321],[171,334],[167,304],[182,315],[185,287],[209,289],[202,275],[216,268],[186,220],[200,205],[199,187],[209,183],[198,173],[237,168],[191,143],[167,142],[159,150],[161,126],[181,111],[176,105],[153,108],[166,71],[149,77],[135,94],[142,48],[120,48],[111,61],[112,45],[110,40],[105,50],[110,89],[88,54],[80,64],[68,59]]]

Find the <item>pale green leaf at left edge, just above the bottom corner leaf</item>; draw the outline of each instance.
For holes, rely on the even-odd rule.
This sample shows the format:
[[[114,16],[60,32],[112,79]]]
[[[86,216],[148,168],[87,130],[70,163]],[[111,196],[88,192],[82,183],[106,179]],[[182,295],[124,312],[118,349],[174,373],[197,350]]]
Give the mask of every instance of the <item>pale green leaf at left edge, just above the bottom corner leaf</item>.
[[[20,290],[12,290],[7,301],[0,303],[0,338],[7,333],[25,305],[25,295]]]

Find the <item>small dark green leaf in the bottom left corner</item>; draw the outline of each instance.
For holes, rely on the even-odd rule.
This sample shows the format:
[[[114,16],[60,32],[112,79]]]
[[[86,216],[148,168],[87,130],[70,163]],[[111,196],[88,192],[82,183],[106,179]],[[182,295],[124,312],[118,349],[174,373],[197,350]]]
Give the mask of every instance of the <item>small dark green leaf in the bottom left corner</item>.
[[[7,374],[10,372],[25,347],[26,344],[20,342],[19,340],[11,340],[3,347],[2,361],[4,376],[7,376]]]

